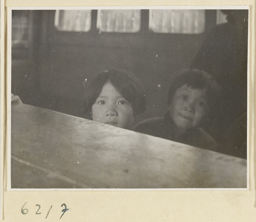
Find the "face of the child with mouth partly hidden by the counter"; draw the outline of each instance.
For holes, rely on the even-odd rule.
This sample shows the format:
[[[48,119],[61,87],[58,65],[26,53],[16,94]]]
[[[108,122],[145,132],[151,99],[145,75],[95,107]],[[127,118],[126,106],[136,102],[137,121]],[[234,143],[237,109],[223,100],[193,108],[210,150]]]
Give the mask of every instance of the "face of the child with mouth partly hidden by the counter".
[[[93,121],[125,129],[131,129],[135,123],[132,104],[109,81],[92,106],[92,116]]]

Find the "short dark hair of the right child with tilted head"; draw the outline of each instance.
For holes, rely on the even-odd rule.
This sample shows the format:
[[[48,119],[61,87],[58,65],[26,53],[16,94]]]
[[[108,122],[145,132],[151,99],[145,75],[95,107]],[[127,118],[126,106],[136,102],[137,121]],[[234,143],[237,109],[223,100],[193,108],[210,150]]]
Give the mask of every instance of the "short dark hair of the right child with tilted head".
[[[198,69],[183,69],[177,73],[168,91],[168,104],[172,103],[173,95],[181,86],[205,90],[209,108],[208,118],[215,118],[222,106],[222,90],[215,78],[207,72]]]

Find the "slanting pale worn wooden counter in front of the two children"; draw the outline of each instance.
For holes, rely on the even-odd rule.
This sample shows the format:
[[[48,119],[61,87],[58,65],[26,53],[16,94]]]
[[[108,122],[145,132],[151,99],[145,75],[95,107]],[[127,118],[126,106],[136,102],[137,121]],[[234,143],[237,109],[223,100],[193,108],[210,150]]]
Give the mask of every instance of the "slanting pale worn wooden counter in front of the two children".
[[[245,188],[245,159],[12,104],[12,188]]]

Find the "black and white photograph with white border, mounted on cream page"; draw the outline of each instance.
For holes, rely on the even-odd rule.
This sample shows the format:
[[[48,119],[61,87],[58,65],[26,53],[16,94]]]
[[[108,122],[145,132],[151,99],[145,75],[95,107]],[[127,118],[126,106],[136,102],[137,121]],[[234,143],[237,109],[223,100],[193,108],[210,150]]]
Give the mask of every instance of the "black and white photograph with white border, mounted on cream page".
[[[10,190],[247,190],[249,8],[8,10]]]

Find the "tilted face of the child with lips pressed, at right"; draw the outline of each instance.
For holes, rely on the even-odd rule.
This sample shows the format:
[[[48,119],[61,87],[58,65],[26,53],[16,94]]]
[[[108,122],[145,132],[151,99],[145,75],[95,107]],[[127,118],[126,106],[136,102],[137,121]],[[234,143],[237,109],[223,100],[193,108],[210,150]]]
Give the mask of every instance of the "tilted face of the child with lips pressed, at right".
[[[208,112],[206,92],[187,85],[178,88],[173,95],[169,113],[177,127],[188,130],[198,127]]]

